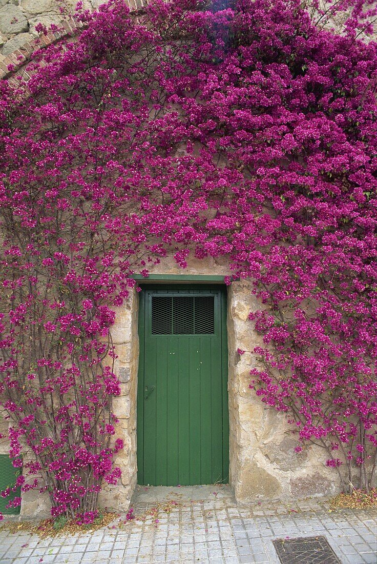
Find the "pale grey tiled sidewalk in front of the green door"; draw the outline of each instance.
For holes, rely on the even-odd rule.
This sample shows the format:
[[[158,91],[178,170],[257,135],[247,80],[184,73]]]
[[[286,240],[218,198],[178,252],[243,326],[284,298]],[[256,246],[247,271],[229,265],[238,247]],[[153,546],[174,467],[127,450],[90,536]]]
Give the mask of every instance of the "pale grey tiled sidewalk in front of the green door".
[[[323,535],[341,564],[375,564],[376,512],[316,501],[237,508],[227,486],[144,488],[124,516],[99,531],[39,539],[0,531],[1,564],[280,564],[274,539]],[[318,562],[318,564],[322,564]]]

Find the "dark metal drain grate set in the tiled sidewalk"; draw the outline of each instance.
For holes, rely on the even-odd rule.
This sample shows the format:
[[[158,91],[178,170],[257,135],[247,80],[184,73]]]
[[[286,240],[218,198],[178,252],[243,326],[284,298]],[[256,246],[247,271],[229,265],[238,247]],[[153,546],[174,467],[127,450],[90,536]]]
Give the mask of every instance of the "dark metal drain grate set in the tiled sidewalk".
[[[324,536],[272,541],[282,564],[341,564]]]

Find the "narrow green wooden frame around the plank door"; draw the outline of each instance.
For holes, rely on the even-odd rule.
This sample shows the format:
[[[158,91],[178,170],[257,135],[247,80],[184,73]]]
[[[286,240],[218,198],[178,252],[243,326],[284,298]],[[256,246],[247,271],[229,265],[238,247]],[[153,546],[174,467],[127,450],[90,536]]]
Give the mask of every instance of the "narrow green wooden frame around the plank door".
[[[220,325],[221,325],[221,365],[223,382],[221,388],[223,415],[223,469],[229,481],[229,400],[228,400],[228,332],[227,332],[227,287],[224,276],[185,276],[185,275],[150,275],[147,279],[135,275],[140,280],[139,292],[139,368],[138,391],[136,397],[136,460],[138,465],[138,483],[144,482],[144,352],[145,352],[145,290],[157,288],[174,288],[187,286],[188,289],[204,289],[206,286],[219,285],[220,290]],[[143,283],[141,283],[143,280]],[[198,484],[199,485],[199,484]]]

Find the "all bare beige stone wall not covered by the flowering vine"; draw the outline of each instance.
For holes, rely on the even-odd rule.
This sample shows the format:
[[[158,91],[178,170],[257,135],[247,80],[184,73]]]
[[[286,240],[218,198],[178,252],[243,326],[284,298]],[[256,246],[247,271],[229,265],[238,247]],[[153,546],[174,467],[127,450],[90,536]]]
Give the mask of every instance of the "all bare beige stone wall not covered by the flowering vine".
[[[131,8],[143,0],[130,0]],[[70,2],[70,4],[69,4]],[[68,0],[72,6],[76,0]],[[84,7],[95,8],[100,0],[85,0]],[[11,53],[20,56],[19,48],[36,37],[35,26],[60,23],[59,0],[0,0],[0,32],[2,55],[0,69],[6,72]],[[68,29],[69,32],[69,29]],[[51,38],[54,41],[54,38]],[[28,49],[31,52],[31,49]],[[1,62],[1,56],[6,56]],[[10,59],[11,63],[14,63]],[[227,275],[225,260],[191,260],[181,270],[171,257],[154,268],[153,274]],[[125,444],[117,464],[122,468],[121,483],[105,486],[100,503],[117,510],[126,510],[136,485],[136,391],[138,376],[138,293],[117,310],[112,338],[118,358],[115,371],[121,380],[121,396],[114,398],[113,411],[119,418],[117,437]],[[333,493],[339,488],[338,476],[326,468],[325,452],[311,447],[299,455],[294,452],[295,438],[285,417],[261,403],[249,389],[250,369],[255,365],[252,349],[261,343],[260,336],[247,320],[250,311],[259,308],[247,281],[234,282],[228,288],[228,349],[229,349],[229,423],[230,423],[230,484],[239,503],[255,499],[289,499]],[[245,350],[239,355],[237,349]],[[0,445],[6,452],[6,445]],[[37,492],[23,496],[21,515],[41,517],[47,513],[48,497]]]

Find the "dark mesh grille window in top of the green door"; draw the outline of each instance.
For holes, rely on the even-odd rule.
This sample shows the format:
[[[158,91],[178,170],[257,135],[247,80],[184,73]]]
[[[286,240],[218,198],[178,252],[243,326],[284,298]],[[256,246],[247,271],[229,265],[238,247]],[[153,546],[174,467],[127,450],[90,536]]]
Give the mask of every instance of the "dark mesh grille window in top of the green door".
[[[153,335],[215,333],[214,296],[153,296]]]

